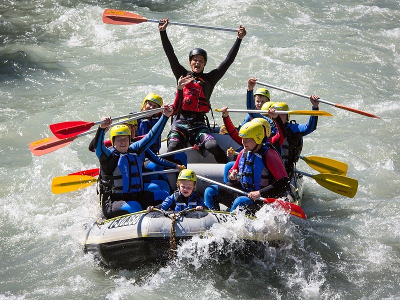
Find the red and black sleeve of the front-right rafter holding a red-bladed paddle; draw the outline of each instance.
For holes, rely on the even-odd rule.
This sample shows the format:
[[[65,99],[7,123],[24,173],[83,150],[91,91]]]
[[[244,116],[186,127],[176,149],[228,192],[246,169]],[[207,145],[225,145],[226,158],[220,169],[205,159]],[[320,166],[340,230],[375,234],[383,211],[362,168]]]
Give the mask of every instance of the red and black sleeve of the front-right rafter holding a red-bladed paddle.
[[[289,189],[289,177],[284,169],[283,163],[279,155],[272,149],[268,149],[265,153],[265,161],[269,172],[275,178],[272,184],[265,186],[259,190],[263,197],[276,197],[282,195]]]

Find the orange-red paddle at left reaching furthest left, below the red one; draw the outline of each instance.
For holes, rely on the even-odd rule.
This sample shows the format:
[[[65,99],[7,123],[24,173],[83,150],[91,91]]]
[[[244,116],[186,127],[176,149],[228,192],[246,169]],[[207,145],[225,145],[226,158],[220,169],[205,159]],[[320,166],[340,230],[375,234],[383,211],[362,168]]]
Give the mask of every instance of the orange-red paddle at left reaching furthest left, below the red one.
[[[123,124],[126,121],[134,120],[134,119],[141,118],[141,117],[142,117],[142,115],[130,117],[126,120],[112,123],[111,126]],[[40,156],[40,155],[50,153],[52,151],[55,151],[59,148],[66,146],[67,144],[71,143],[72,140],[74,140],[75,138],[78,138],[78,137],[81,137],[81,136],[84,136],[87,134],[95,133],[96,131],[97,131],[97,129],[93,129],[93,130],[82,132],[77,135],[73,135],[70,137],[62,138],[62,139],[59,139],[56,136],[45,137],[45,138],[35,140],[35,141],[32,141],[31,143],[29,143],[29,149],[34,155]]]

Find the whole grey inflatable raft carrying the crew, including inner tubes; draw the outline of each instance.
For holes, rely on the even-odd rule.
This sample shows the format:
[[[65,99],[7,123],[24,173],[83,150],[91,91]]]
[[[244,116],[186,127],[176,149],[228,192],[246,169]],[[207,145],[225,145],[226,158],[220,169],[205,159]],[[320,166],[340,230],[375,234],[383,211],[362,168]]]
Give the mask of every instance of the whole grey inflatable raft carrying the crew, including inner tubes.
[[[222,149],[239,147],[229,136],[213,133]],[[166,151],[166,142],[160,152]],[[223,183],[224,164],[218,164],[213,155],[198,151],[187,152],[188,168],[197,175]],[[234,157],[229,157],[231,160]],[[167,174],[171,186],[175,185],[175,174]],[[197,190],[202,193],[210,183],[197,180]],[[293,202],[301,205],[303,182],[295,174],[291,180]],[[222,205],[221,205],[222,206]],[[250,217],[250,216],[249,216]],[[293,216],[294,217],[294,216]],[[235,214],[226,211],[152,212],[140,211],[120,217],[99,220],[87,232],[84,249],[92,253],[104,265],[111,268],[137,268],[143,264],[161,262],[169,258],[172,244],[194,235],[204,236],[215,223],[234,221]],[[267,229],[266,229],[267,230]],[[246,241],[267,241],[267,232],[252,232],[242,236]],[[172,249],[173,252],[173,249]]]

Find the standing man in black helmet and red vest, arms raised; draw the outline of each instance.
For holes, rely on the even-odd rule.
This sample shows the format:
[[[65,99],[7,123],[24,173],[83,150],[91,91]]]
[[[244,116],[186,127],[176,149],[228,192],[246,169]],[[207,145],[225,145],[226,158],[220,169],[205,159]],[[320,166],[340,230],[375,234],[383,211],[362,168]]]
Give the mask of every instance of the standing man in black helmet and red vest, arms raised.
[[[214,86],[235,59],[241,40],[246,35],[246,30],[243,26],[239,26],[237,38],[226,58],[217,68],[204,73],[207,52],[201,48],[192,49],[189,53],[190,70],[187,70],[179,63],[166,34],[168,19],[161,19],[161,21],[162,23],[158,24],[158,30],[176,81],[181,76],[190,75],[193,78],[190,83],[183,87],[183,102],[181,110],[173,118],[172,127],[168,133],[167,151],[183,148],[189,141],[191,144],[199,145],[200,149],[208,150],[214,155],[218,163],[226,163],[225,151],[218,146],[215,138],[211,135],[206,124],[205,114],[211,108],[209,99]]]

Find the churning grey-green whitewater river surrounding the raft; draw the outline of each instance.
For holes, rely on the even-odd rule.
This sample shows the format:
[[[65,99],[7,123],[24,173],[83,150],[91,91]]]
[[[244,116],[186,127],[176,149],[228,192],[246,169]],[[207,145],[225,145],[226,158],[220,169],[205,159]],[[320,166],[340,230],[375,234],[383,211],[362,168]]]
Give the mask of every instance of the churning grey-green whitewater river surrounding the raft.
[[[160,268],[98,265],[82,250],[85,225],[99,213],[95,187],[56,195],[50,188],[55,176],[96,167],[87,150],[92,136],[42,156],[28,143],[51,136],[52,123],[138,110],[148,92],[173,100],[175,80],[156,23],[104,24],[105,8],[243,24],[247,36],[214,89],[213,107],[244,108],[246,81],[255,76],[380,116],[321,103],[334,117],[319,117],[304,138],[303,156],[348,164],[357,194],[340,196],[305,178],[307,222],[261,214],[260,226],[283,242],[250,259],[214,260],[199,250],[206,241],[192,240]],[[393,0],[0,0],[0,299],[399,299],[399,20]],[[206,71],[235,39],[234,32],[176,25],[167,32],[183,65],[192,48],[203,47]],[[311,106],[273,89],[271,100]],[[231,117],[239,123],[244,115]],[[297,167],[317,173],[303,161]],[[232,238],[240,225],[213,238]]]

